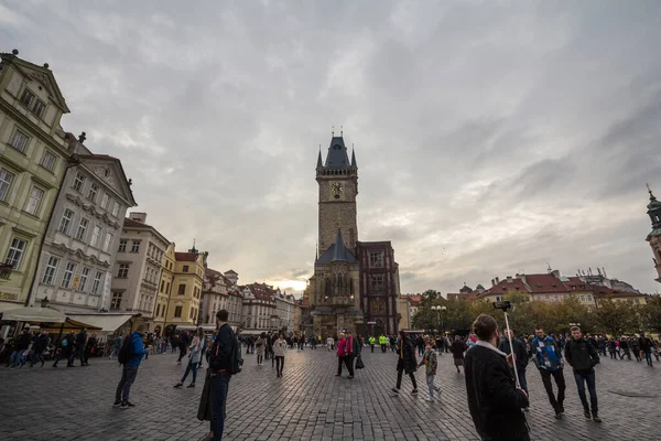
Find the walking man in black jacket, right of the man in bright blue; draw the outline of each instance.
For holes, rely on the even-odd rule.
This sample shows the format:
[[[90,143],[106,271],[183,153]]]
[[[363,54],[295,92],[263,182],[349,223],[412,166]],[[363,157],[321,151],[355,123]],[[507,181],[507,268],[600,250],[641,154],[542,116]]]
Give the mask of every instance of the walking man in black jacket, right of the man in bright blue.
[[[599,363],[599,355],[595,347],[583,338],[581,327],[572,326],[572,338],[567,341],[565,346],[565,358],[574,368],[574,379],[578,387],[578,397],[583,404],[585,418],[590,419],[589,406],[585,396],[585,383],[589,391],[589,401],[592,405],[592,419],[595,422],[602,422],[599,418],[599,408],[597,406],[597,388],[595,386],[595,369],[594,366]]]

